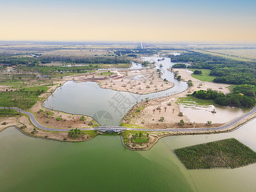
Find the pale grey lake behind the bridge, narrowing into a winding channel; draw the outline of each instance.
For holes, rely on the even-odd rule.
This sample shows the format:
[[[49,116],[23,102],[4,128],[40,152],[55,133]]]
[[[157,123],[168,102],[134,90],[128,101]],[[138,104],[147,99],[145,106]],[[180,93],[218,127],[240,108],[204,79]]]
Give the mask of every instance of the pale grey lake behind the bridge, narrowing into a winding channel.
[[[170,58],[163,61],[157,61],[159,57],[146,57],[145,61],[156,62],[156,68],[161,68],[163,79],[174,83],[174,87],[163,92],[149,93],[139,95],[129,92],[117,92],[115,90],[100,88],[95,82],[76,83],[68,81],[45,100],[43,106],[66,113],[88,115],[97,120],[100,125],[119,125],[120,120],[129,111],[129,109],[141,102],[141,99],[154,99],[165,97],[175,93],[184,92],[188,85],[183,81],[177,81],[173,73],[168,71],[175,63],[170,62]],[[163,67],[159,67],[160,63]],[[134,65],[134,68],[141,68],[141,65]],[[145,79],[148,84],[150,79]]]

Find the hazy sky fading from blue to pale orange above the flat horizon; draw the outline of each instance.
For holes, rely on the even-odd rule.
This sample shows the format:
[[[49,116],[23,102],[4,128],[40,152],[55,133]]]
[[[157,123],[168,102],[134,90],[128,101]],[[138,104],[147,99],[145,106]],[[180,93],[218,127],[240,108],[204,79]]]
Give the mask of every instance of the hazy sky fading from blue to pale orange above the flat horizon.
[[[0,40],[256,42],[255,0],[0,0]]]

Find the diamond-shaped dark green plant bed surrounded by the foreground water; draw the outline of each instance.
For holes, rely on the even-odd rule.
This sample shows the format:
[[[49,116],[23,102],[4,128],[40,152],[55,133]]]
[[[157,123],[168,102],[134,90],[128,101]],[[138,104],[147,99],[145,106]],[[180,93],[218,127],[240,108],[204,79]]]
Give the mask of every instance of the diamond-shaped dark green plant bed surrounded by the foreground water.
[[[178,148],[174,153],[189,170],[238,168],[256,163],[256,152],[234,138]]]

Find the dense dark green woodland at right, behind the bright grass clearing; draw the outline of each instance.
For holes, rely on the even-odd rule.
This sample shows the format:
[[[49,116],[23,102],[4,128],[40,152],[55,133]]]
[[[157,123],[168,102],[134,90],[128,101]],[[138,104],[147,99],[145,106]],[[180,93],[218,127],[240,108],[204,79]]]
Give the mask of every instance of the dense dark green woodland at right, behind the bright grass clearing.
[[[237,61],[195,51],[170,56],[170,58],[172,62],[187,62],[191,64],[185,67],[180,65],[181,63],[177,63],[173,68],[210,69],[210,76],[216,76],[213,80],[215,83],[256,85],[255,61]]]

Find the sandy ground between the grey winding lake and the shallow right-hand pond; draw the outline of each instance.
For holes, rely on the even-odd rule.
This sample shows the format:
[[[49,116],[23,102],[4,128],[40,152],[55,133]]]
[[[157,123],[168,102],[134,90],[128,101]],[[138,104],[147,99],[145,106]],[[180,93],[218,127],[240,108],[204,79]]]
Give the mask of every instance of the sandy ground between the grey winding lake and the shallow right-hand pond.
[[[176,69],[175,69],[176,70]],[[205,124],[197,124],[196,122],[191,122],[186,116],[178,116],[180,112],[180,106],[177,104],[177,99],[179,97],[186,97],[188,93],[193,93],[197,90],[207,90],[211,88],[212,90],[217,90],[223,93],[229,93],[228,84],[218,84],[211,82],[202,82],[198,79],[191,77],[191,72],[186,69],[178,69],[179,75],[182,76],[183,81],[188,81],[189,79],[193,82],[194,86],[188,88],[186,92],[178,93],[176,95],[170,95],[168,97],[161,97],[157,99],[149,100],[148,102],[143,102],[134,106],[127,115],[122,120],[124,124],[133,124],[140,127],[148,128],[174,128],[174,127],[205,127]],[[221,88],[221,89],[220,89]],[[168,105],[168,104],[171,105]],[[141,110],[138,115],[134,115],[136,108],[141,108],[141,106],[146,106]],[[157,110],[160,106],[161,110]],[[164,121],[160,122],[161,116],[164,117]],[[185,125],[180,126],[178,123],[180,120],[184,120]],[[212,124],[212,126],[220,126],[221,124]]]

